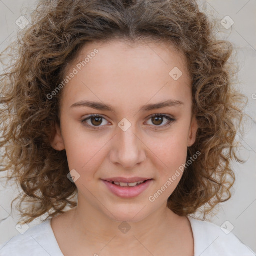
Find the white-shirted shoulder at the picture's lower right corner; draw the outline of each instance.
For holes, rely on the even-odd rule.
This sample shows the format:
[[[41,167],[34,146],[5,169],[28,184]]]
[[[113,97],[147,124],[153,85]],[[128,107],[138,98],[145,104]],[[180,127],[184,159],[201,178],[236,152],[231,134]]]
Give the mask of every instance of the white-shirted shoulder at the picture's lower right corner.
[[[188,216],[194,236],[194,256],[255,256],[233,233],[219,226]]]

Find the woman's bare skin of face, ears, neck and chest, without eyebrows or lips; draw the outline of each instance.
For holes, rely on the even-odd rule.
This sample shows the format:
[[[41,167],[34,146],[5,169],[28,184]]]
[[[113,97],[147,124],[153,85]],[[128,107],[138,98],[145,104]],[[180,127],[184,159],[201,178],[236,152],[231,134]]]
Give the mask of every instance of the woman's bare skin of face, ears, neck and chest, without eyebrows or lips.
[[[193,234],[186,217],[167,208],[166,203],[182,176],[157,198],[159,190],[186,162],[187,147],[195,141],[197,122],[192,115],[191,78],[184,56],[165,43],[128,44],[121,40],[86,44],[69,63],[66,74],[87,54],[99,52],[62,89],[60,127],[52,140],[56,150],[66,150],[69,170],[75,181],[78,205],[53,217],[51,226],[60,249],[69,255],[193,255]],[[174,80],[169,72],[178,67]],[[182,104],[139,111],[145,104],[164,100]],[[71,107],[90,100],[111,105],[111,111],[86,106]],[[84,121],[91,114],[103,117]],[[174,118],[170,126],[151,116]],[[118,123],[126,118],[131,126],[123,131]],[[90,128],[94,124],[99,129]],[[153,182],[134,198],[112,194],[101,179],[148,177]],[[118,226],[130,226],[122,233]],[[97,253],[97,254],[96,254]]]

